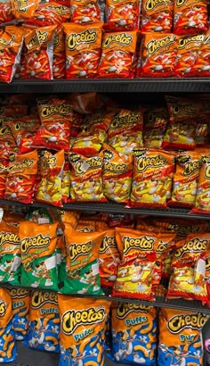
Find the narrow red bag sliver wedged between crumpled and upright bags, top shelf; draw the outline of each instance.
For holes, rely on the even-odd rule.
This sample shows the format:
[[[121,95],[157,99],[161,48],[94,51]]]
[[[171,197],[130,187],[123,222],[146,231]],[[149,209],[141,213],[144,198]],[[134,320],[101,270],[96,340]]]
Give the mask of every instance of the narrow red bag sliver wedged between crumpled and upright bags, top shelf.
[[[53,42],[53,79],[65,79],[66,54],[65,37],[62,27],[57,29]]]

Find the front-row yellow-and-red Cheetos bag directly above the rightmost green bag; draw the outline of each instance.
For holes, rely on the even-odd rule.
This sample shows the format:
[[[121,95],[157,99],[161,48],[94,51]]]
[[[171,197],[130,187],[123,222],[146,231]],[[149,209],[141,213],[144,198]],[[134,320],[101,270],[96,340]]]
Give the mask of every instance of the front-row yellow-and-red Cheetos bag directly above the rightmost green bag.
[[[106,198],[102,191],[102,154],[86,158],[69,153],[71,165],[70,197],[74,201],[101,201]]]

